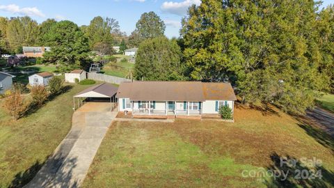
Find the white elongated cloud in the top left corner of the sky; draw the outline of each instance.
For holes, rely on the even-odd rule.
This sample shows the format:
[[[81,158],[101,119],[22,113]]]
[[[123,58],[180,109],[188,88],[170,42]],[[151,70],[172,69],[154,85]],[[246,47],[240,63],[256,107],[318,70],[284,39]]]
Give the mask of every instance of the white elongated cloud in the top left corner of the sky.
[[[0,5],[0,10],[6,11],[8,13],[19,14],[19,15],[29,15],[29,16],[38,16],[45,17],[45,15],[35,7],[24,7],[19,8],[19,6],[15,4],[10,5]]]

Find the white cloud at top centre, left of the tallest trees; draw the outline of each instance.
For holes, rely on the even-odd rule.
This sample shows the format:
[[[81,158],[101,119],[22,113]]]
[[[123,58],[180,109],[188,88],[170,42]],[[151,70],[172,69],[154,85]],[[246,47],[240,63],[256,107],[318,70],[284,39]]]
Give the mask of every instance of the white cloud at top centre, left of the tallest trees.
[[[186,10],[188,10],[189,6],[193,4],[199,6],[200,2],[200,0],[184,0],[181,2],[165,1],[161,5],[161,10],[166,13],[183,16],[186,14]]]

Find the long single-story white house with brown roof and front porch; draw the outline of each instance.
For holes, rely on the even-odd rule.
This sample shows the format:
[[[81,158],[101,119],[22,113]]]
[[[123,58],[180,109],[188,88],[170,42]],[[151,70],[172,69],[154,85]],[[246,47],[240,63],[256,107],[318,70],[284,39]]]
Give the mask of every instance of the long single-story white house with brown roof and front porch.
[[[234,109],[230,83],[201,81],[134,81],[122,82],[116,94],[119,111],[133,115],[200,116],[218,114],[218,109]]]

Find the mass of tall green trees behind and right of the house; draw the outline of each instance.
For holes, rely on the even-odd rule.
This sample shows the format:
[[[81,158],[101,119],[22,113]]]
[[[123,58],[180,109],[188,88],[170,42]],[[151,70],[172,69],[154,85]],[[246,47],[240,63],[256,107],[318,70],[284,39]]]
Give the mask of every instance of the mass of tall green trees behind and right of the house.
[[[320,5],[202,0],[182,19],[180,38],[141,42],[134,76],[230,81],[241,102],[303,113],[319,91],[334,91],[334,8]]]

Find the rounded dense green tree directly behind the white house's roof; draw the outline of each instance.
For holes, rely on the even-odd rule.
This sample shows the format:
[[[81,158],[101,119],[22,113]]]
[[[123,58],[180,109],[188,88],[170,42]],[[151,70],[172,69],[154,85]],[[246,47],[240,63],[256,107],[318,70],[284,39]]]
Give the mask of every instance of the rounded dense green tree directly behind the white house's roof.
[[[141,42],[136,52],[134,77],[145,80],[184,79],[181,51],[175,40],[166,37]]]

